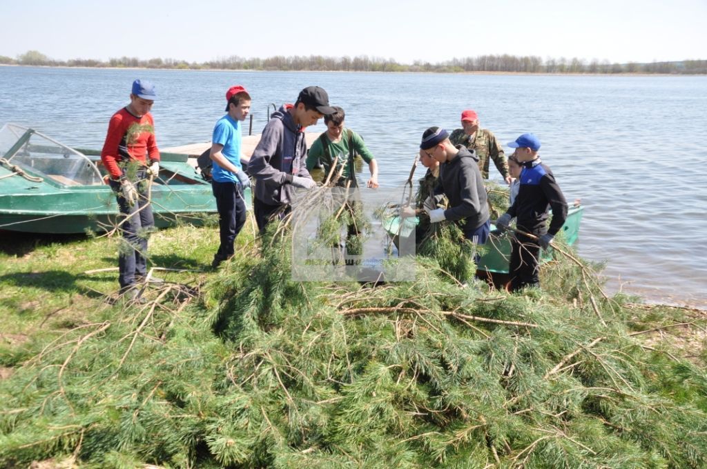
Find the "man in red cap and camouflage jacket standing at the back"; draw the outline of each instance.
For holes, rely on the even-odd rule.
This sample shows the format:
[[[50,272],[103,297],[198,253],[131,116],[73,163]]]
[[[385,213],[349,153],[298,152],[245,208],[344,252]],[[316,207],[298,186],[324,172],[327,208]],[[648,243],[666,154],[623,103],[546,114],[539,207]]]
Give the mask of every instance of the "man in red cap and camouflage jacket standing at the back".
[[[474,150],[479,158],[479,170],[484,179],[489,179],[489,156],[503,176],[506,184],[510,184],[508,161],[503,147],[489,129],[479,129],[479,116],[476,111],[467,109],[462,112],[462,129],[456,129],[450,135],[452,145],[463,145]]]

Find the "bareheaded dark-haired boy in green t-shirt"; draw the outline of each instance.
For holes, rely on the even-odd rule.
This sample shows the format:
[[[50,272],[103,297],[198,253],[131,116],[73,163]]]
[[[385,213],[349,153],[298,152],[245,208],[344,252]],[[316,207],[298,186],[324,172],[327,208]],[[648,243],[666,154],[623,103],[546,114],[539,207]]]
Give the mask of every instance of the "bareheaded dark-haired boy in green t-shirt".
[[[337,106],[334,106],[332,114],[325,115],[324,123],[327,124],[327,131],[312,143],[312,148],[307,156],[307,170],[311,171],[317,165],[317,161],[321,161],[325,174],[329,174],[334,158],[338,156],[339,160],[337,160],[334,174],[338,174],[341,166],[344,166],[344,171],[341,173],[337,185],[345,186],[346,181],[351,180],[351,187],[357,187],[354,158],[356,155],[361,155],[363,161],[368,163],[370,170],[370,179],[368,179],[366,186],[375,189],[378,187],[378,164],[375,162],[375,157],[366,148],[363,138],[358,133],[344,128],[344,118],[344,109]]]

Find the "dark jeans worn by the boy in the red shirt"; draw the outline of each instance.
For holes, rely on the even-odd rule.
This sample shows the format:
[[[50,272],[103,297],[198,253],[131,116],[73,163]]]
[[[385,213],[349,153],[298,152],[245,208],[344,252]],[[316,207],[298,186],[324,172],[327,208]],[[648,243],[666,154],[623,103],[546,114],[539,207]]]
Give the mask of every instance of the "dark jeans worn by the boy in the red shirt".
[[[146,170],[138,170],[135,187],[140,194],[138,202],[129,206],[123,197],[120,182],[109,179],[120,210],[118,222],[122,222],[119,230],[125,240],[125,246],[118,250],[118,283],[121,290],[126,290],[135,283],[135,277],[147,275],[147,238],[155,226],[152,206],[148,200],[148,184]]]

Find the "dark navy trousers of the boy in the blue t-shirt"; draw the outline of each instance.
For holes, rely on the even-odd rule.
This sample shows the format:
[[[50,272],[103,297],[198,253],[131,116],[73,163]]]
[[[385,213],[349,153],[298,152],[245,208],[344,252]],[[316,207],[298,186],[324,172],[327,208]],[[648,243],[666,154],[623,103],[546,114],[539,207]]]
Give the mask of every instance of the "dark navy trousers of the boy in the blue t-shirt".
[[[243,189],[235,182],[211,181],[211,190],[216,197],[218,231],[221,235],[221,246],[218,247],[214,259],[226,261],[233,256],[233,242],[245,225]]]

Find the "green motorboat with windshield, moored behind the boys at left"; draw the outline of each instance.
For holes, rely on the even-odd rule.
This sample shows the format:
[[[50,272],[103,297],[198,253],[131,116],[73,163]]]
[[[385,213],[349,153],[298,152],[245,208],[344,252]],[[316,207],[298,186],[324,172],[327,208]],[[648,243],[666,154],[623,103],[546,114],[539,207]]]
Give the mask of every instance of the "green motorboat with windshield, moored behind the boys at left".
[[[34,129],[0,129],[0,230],[81,233],[111,230],[118,207],[100,151],[70,148]],[[201,224],[216,213],[211,184],[187,155],[160,153],[151,201],[155,224]],[[250,207],[250,189],[245,191]]]

